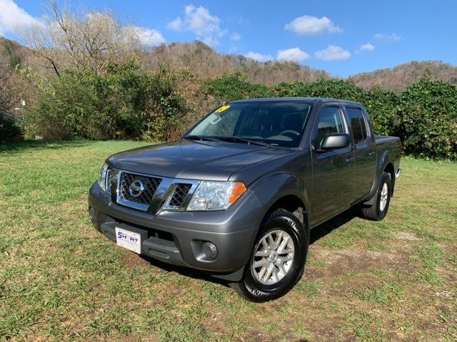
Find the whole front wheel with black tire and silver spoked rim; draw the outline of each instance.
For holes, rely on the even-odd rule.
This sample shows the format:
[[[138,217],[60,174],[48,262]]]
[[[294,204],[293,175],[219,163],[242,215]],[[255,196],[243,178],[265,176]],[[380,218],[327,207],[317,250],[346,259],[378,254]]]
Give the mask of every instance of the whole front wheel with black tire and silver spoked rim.
[[[230,285],[248,301],[277,299],[301,279],[307,253],[307,230],[291,212],[278,209],[263,221],[243,279]]]

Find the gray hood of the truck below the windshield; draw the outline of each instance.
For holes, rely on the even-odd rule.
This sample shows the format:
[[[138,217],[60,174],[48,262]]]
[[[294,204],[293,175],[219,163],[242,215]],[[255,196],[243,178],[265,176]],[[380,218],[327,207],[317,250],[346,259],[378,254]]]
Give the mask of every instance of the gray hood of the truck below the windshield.
[[[243,167],[291,150],[236,142],[178,140],[139,147],[111,155],[107,162],[117,169],[189,180],[229,180]]]

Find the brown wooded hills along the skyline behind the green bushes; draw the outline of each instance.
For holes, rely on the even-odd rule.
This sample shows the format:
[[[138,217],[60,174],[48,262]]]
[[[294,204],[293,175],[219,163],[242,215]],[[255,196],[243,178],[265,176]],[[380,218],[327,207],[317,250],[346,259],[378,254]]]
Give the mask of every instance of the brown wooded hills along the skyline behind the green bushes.
[[[0,54],[6,57],[10,66],[25,63],[32,68],[42,69],[41,63],[36,63],[28,48],[1,36]],[[253,83],[268,85],[279,82],[308,82],[332,78],[327,71],[302,66],[298,63],[258,62],[242,55],[218,53],[201,41],[162,44],[151,51],[138,51],[136,56],[144,68],[155,69],[159,63],[166,63],[172,68],[189,68],[201,78],[214,78],[223,73],[233,73],[236,70],[246,73],[249,81]],[[358,73],[349,76],[348,79],[364,89],[378,86],[399,91],[418,81],[422,76],[457,84],[457,66],[442,61],[411,61],[393,68]]]

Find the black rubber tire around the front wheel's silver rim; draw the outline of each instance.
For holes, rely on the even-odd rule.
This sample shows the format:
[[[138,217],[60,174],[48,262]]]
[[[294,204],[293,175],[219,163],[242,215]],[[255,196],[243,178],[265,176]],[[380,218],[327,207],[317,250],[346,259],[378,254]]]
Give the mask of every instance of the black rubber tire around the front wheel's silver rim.
[[[283,230],[289,234],[293,240],[295,251],[293,254],[292,269],[288,271],[288,274],[276,284],[266,285],[261,284],[253,275],[251,264],[259,240],[273,230]],[[263,224],[262,229],[258,234],[258,238],[253,245],[251,257],[246,265],[243,282],[250,295],[257,297],[258,299],[268,300],[275,299],[288,292],[296,282],[300,280],[301,275],[303,274],[307,252],[308,238],[305,229],[303,229],[303,224],[289,212],[282,211],[280,213],[273,213],[272,217],[266,219],[266,222]]]

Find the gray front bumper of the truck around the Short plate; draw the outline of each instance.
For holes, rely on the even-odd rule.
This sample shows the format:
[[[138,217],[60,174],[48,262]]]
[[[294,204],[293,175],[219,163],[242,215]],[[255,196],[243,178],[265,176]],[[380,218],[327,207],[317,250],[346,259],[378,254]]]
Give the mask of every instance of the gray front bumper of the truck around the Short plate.
[[[111,202],[95,182],[89,191],[89,215],[96,229],[113,241],[115,227],[146,232],[141,254],[237,281],[250,257],[263,212],[261,202],[248,191],[227,210],[154,215]],[[203,242],[216,246],[215,259],[204,256]]]

